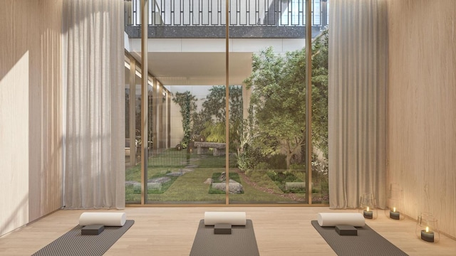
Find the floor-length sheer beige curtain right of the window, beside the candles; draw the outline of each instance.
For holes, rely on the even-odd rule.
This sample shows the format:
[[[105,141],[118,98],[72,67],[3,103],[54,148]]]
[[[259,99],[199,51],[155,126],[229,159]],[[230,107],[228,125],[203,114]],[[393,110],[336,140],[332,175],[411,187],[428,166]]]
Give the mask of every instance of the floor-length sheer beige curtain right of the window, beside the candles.
[[[385,0],[331,1],[328,142],[331,208],[385,206],[388,28]]]

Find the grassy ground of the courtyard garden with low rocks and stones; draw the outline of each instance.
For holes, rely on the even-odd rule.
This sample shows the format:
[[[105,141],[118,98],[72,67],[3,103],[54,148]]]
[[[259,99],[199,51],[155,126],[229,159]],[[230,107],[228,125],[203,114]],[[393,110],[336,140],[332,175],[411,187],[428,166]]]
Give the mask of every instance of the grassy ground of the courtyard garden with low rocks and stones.
[[[190,156],[187,159],[187,156]],[[304,170],[241,171],[237,156],[229,155],[229,179],[242,185],[241,193],[230,193],[230,203],[299,203],[306,201],[302,187],[285,189],[287,182],[305,181]],[[151,156],[147,168],[147,203],[225,203],[225,192],[213,185],[225,183],[225,156],[187,154],[167,149]],[[284,178],[281,178],[284,177]],[[125,201],[140,203],[140,165],[125,171]],[[304,186],[305,188],[305,186]],[[318,191],[313,191],[315,198]],[[326,203],[326,202],[323,202]]]

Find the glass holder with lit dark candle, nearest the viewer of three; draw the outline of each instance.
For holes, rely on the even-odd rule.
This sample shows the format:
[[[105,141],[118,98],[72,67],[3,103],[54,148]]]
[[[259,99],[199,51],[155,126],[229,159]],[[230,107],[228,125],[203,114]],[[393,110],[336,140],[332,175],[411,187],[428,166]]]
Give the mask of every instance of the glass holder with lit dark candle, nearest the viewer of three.
[[[440,232],[438,220],[430,213],[421,213],[416,223],[415,234],[425,242],[438,242]]]

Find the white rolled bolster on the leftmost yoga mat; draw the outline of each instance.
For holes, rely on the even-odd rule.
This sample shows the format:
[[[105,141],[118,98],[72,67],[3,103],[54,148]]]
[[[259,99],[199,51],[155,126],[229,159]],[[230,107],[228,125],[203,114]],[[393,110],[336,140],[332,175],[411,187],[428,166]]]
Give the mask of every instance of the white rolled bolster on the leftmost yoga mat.
[[[125,213],[82,213],[79,217],[79,225],[105,225],[123,226],[127,220]]]

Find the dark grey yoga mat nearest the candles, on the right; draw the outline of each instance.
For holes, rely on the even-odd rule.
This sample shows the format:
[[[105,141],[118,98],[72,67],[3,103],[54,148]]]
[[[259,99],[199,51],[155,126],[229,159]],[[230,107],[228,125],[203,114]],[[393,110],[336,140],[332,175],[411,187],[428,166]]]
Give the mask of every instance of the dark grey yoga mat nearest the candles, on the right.
[[[339,256],[406,256],[391,242],[378,235],[368,225],[356,227],[358,235],[339,235],[334,227],[321,227],[317,220],[311,221],[314,228]]]

